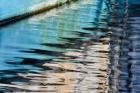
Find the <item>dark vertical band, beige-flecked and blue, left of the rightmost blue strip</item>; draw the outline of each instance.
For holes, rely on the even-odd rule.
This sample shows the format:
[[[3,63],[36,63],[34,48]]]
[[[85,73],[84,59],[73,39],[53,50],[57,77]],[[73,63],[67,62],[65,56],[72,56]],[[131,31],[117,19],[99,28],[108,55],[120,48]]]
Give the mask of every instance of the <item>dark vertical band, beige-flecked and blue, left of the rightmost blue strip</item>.
[[[129,62],[128,62],[128,30],[126,22],[128,11],[127,0],[113,0],[110,56],[110,93],[129,92]]]

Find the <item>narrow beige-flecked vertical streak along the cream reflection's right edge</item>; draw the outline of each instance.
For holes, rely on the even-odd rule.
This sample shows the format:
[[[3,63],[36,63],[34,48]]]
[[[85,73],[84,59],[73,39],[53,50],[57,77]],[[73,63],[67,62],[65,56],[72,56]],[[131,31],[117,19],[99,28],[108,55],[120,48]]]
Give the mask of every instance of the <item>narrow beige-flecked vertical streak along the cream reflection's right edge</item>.
[[[118,80],[118,59],[119,59],[119,35],[121,35],[120,31],[116,31],[116,26],[112,24],[116,23],[116,0],[111,0],[112,5],[112,19],[111,19],[111,41],[110,41],[110,75],[109,75],[109,84],[110,90],[109,93],[117,93],[117,80]],[[113,29],[114,28],[114,29]]]

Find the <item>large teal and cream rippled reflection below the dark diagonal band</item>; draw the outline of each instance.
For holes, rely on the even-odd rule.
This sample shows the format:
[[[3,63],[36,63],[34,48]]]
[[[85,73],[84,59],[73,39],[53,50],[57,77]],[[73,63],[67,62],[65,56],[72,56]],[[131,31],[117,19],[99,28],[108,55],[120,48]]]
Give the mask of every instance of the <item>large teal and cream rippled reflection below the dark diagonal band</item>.
[[[105,93],[108,90],[106,0],[0,28],[2,92]],[[61,9],[60,9],[61,10]]]

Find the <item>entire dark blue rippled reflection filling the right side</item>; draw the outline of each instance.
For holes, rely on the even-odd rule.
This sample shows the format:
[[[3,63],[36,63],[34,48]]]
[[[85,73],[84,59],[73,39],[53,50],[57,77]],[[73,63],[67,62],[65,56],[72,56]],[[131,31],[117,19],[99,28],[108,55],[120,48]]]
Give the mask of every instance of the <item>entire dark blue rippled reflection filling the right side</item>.
[[[109,93],[140,93],[139,7],[139,0],[122,0],[114,6]]]

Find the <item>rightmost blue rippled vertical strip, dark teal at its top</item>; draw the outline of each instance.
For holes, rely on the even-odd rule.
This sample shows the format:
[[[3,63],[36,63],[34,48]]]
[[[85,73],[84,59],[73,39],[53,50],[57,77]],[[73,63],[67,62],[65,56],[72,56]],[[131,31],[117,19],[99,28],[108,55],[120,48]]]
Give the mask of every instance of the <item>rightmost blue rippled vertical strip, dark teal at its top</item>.
[[[140,93],[140,2],[129,0],[130,92]]]

